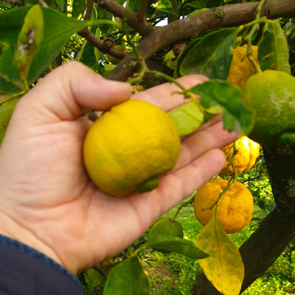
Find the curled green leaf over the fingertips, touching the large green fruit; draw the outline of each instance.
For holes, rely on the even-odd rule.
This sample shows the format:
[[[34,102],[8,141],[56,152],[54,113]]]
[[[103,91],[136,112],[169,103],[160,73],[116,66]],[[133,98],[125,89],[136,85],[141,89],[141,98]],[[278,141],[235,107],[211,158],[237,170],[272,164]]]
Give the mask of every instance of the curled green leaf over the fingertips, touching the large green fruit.
[[[223,127],[229,131],[242,130],[247,135],[252,130],[255,116],[240,102],[240,88],[226,81],[210,80],[191,88],[201,96],[204,108],[219,105],[223,108]]]

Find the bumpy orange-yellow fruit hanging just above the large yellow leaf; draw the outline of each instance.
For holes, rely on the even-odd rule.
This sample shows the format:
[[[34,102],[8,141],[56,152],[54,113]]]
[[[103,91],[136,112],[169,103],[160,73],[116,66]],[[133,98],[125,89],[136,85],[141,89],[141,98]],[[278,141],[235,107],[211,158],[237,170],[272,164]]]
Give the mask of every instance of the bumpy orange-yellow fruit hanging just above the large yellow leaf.
[[[226,179],[213,179],[196,191],[194,197],[194,215],[203,225],[210,221],[221,192],[228,185]],[[241,182],[234,182],[232,187],[221,197],[217,216],[226,233],[238,233],[251,221],[253,213],[253,197],[249,189]]]

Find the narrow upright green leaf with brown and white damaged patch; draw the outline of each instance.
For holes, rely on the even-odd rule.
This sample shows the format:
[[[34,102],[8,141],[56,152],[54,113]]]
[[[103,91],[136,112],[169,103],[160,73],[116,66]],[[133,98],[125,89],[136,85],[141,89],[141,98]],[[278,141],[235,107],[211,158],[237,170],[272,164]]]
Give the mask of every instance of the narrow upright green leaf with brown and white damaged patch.
[[[14,61],[23,81],[27,80],[28,70],[33,62],[33,58],[40,50],[43,34],[43,13],[40,5],[37,4],[26,14],[21,32],[18,35],[16,52],[14,54]]]

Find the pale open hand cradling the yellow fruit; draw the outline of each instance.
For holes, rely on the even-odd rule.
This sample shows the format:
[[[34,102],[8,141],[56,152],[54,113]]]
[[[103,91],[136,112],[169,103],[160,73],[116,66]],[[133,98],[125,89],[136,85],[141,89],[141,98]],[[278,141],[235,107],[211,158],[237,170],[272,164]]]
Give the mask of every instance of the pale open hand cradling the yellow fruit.
[[[204,82],[191,75],[184,87]],[[133,98],[165,111],[184,104],[174,84]],[[114,198],[97,189],[82,160],[91,121],[131,95],[130,85],[98,77],[78,62],[55,69],[18,102],[0,148],[0,233],[42,252],[76,275],[113,257],[150,224],[217,174],[220,147],[238,138],[216,119],[182,139],[176,167],[145,194]]]

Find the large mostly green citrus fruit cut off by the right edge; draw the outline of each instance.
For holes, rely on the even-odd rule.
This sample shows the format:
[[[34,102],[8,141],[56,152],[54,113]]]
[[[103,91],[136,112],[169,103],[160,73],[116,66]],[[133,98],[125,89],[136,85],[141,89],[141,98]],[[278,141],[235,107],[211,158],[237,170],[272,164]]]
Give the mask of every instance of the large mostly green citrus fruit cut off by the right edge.
[[[295,133],[295,78],[290,74],[266,70],[252,75],[240,96],[246,108],[255,111],[250,135],[262,145],[282,143]],[[286,141],[287,143],[287,141]]]

